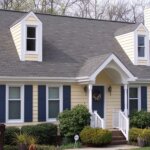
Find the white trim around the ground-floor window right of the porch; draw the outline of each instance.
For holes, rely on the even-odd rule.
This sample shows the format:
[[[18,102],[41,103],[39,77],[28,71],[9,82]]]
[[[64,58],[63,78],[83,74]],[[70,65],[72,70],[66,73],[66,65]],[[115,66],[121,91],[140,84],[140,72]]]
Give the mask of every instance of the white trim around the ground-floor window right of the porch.
[[[129,97],[130,88],[137,88],[138,89],[138,111],[141,110],[141,86],[130,85],[128,87],[128,114],[129,114],[129,109],[130,109],[130,97]]]

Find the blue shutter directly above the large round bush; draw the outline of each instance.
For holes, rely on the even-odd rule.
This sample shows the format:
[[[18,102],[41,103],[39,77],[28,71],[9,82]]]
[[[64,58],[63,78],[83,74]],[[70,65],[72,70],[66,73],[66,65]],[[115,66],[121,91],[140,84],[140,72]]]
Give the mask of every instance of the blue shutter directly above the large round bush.
[[[63,86],[63,110],[71,109],[71,87]]]

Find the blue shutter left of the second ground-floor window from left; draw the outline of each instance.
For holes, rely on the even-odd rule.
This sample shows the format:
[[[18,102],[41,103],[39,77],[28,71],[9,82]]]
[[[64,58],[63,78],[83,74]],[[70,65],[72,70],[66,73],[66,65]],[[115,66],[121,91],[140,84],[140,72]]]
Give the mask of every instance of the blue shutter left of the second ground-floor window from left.
[[[38,87],[38,121],[46,121],[46,86]]]

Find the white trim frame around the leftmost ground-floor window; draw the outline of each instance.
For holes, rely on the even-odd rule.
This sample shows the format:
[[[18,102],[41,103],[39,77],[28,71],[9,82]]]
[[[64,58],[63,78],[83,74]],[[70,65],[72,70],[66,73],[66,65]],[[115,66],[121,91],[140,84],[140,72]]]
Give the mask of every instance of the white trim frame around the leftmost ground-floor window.
[[[9,101],[9,87],[20,87],[21,90],[21,119],[8,118],[8,101]],[[6,85],[6,123],[23,123],[24,122],[24,85]]]

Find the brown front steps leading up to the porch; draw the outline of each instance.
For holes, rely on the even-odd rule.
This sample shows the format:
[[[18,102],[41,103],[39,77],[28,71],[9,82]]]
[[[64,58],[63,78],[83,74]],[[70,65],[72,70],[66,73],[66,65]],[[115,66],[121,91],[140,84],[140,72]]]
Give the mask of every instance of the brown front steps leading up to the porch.
[[[111,130],[112,132],[112,145],[121,145],[121,144],[127,144],[126,138],[119,130]]]

